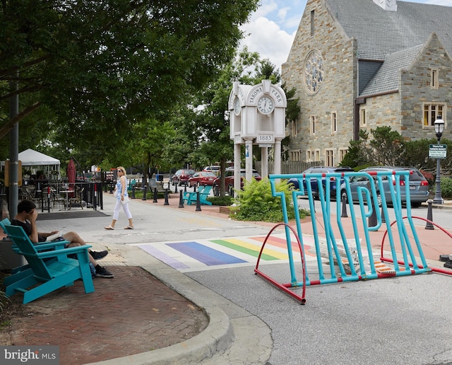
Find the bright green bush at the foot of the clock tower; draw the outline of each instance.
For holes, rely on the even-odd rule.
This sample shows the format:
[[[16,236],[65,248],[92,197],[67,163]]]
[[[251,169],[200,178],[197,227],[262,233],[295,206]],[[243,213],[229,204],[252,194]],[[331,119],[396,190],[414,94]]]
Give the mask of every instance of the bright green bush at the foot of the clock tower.
[[[289,219],[295,219],[295,212],[292,209],[292,194],[287,180],[276,185],[277,192],[285,192],[287,215]],[[271,193],[270,181],[252,180],[245,182],[244,190],[241,190],[234,199],[236,206],[232,207],[230,216],[239,221],[283,221],[283,209],[280,197],[273,197]],[[300,210],[300,218],[309,215],[309,212]]]

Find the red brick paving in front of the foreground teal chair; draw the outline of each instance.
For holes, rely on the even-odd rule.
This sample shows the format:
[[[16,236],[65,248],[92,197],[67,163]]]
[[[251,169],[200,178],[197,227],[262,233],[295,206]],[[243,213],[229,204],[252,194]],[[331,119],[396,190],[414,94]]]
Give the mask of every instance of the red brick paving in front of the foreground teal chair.
[[[208,325],[206,314],[141,267],[109,266],[114,279],[95,278],[95,292],[81,282],[54,291],[11,318],[11,342],[59,345],[60,364],[87,364],[168,347]]]

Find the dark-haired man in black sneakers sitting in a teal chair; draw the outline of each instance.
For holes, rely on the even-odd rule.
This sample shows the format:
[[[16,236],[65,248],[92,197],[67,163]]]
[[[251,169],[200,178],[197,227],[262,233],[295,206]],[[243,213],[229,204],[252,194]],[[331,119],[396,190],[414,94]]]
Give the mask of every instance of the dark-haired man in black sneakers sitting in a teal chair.
[[[14,226],[20,226],[23,228],[25,233],[27,233],[27,236],[30,237],[30,241],[32,243],[42,243],[47,241],[47,237],[54,235],[55,233],[58,233],[58,231],[52,231],[49,233],[44,232],[38,232],[37,226],[36,226],[36,220],[37,220],[37,211],[36,211],[36,204],[33,203],[30,200],[22,200],[18,206],[17,206],[17,215],[14,217],[14,219],[11,221],[11,224]],[[78,236],[78,233],[76,232],[68,232],[62,236],[66,241],[69,241],[69,243],[65,246],[66,248],[69,247],[75,247],[80,245],[86,245],[85,241]],[[88,251],[90,255],[88,256],[90,259],[90,263],[94,266],[96,270],[96,277],[107,277],[112,278],[114,275],[109,272],[105,267],[100,266],[97,264],[96,260],[100,260],[103,257],[107,256],[108,251]]]

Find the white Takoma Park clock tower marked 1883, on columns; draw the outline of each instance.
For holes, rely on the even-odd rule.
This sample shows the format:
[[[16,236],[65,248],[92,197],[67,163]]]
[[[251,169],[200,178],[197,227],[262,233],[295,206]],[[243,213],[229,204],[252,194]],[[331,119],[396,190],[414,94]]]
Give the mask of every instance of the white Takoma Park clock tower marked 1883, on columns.
[[[246,180],[253,175],[253,144],[261,147],[262,177],[268,176],[268,147],[274,147],[273,173],[281,172],[281,140],[285,137],[283,89],[270,80],[257,85],[233,83],[229,97],[230,138],[234,140],[234,171],[240,170],[240,146],[245,144]],[[240,189],[240,174],[234,173],[234,189]]]

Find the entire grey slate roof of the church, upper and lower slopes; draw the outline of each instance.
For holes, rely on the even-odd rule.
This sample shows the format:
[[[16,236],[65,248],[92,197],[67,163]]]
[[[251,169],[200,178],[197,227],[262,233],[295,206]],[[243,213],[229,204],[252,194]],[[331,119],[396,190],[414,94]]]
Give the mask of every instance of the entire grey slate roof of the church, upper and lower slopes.
[[[357,39],[357,58],[383,61],[359,97],[398,91],[398,71],[407,68],[432,33],[452,56],[452,6],[397,1],[386,11],[373,0],[325,0],[347,37]]]

